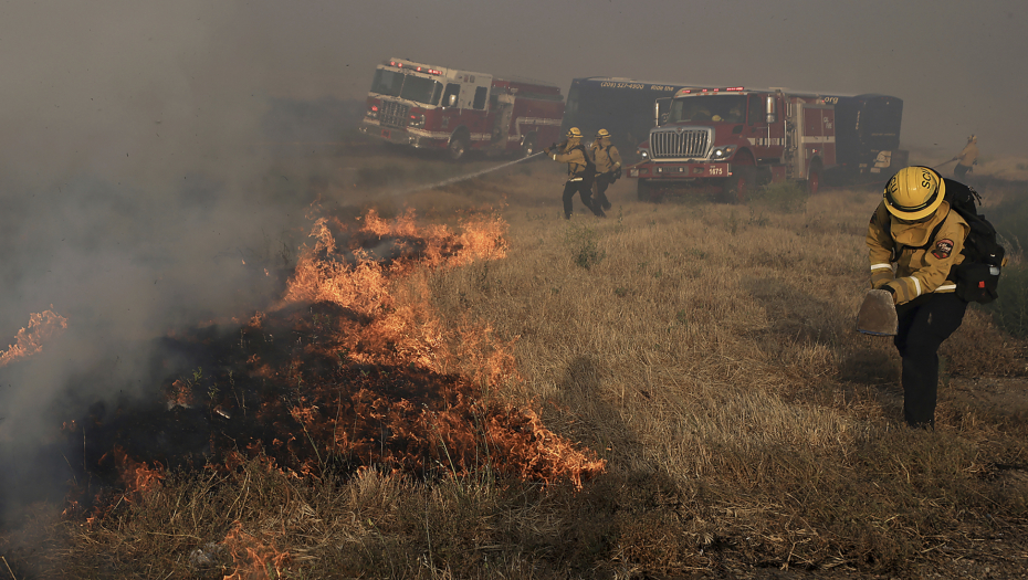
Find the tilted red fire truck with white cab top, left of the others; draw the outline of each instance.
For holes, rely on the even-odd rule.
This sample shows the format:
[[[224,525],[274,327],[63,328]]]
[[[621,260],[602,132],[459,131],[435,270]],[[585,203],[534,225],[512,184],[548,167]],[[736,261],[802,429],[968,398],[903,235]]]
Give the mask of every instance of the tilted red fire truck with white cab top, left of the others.
[[[556,85],[389,59],[375,70],[360,131],[454,160],[472,150],[529,156],[559,140],[563,117]]]

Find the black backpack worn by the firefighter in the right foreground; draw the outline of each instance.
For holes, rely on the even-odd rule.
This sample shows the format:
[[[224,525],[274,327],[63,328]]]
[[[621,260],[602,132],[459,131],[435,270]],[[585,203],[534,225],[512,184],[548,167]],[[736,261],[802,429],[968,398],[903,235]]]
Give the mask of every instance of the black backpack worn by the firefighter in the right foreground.
[[[999,273],[1006,250],[996,241],[996,228],[978,213],[977,204],[982,203],[982,196],[974,188],[959,181],[943,179],[946,186],[946,197],[950,208],[964,218],[971,226],[971,233],[964,240],[964,261],[954,266],[948,280],[956,284],[956,295],[967,302],[987,304],[999,295]],[[932,232],[932,240],[938,234],[942,223]]]

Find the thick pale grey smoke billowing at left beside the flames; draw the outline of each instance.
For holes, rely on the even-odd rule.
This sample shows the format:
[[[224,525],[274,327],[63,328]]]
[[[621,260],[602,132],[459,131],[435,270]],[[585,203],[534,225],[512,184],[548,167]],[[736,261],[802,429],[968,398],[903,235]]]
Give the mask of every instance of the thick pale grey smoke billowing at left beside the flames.
[[[51,306],[67,330],[0,369],[0,512],[69,478],[62,420],[168,372],[156,337],[282,283],[310,198],[269,178],[265,75],[228,6],[4,8],[0,340]]]

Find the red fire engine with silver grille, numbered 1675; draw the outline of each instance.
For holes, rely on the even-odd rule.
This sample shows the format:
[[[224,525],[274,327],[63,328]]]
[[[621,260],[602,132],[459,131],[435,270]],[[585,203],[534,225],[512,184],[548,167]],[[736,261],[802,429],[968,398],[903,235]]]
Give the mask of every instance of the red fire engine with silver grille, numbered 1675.
[[[784,180],[815,192],[836,165],[838,98],[741,86],[680,89],[628,175],[639,180],[640,200],[659,199],[672,184],[711,186],[725,201]]]

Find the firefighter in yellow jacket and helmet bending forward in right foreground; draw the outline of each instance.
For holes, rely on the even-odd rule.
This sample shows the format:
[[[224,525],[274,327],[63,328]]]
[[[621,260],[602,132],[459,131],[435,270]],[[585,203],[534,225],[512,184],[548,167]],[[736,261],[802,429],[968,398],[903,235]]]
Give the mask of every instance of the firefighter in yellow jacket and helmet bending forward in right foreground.
[[[971,226],[950,210],[945,193],[946,180],[934,170],[901,169],[868,228],[871,286],[892,293],[896,305],[903,418],[917,428],[935,424],[938,347],[959,328],[967,308],[955,294],[953,270],[964,260]]]

